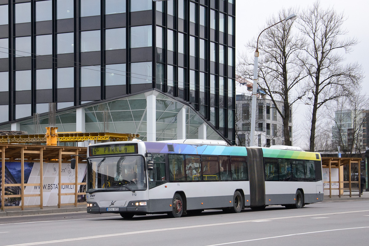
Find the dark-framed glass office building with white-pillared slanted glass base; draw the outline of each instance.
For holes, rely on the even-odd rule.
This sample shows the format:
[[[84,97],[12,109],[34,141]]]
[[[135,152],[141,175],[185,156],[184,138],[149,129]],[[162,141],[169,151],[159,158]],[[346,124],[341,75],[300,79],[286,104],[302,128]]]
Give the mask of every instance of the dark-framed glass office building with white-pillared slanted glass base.
[[[0,130],[234,144],[235,0],[0,0],[0,83]]]

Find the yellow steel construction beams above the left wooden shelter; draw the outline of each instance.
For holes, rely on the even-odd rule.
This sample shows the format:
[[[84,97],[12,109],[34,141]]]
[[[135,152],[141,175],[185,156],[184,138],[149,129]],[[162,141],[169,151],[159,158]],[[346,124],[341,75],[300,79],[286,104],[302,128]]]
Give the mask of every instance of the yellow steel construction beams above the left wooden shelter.
[[[46,127],[50,128],[50,127]],[[83,142],[88,140],[96,141],[130,141],[139,137],[139,134],[132,133],[82,133],[82,132],[59,132],[56,133],[58,127],[51,127],[51,131],[44,134],[16,134],[1,135],[0,143],[3,144],[27,144],[41,142],[46,145],[56,146],[59,142]],[[50,143],[50,144],[48,144]],[[54,145],[55,144],[55,145]]]

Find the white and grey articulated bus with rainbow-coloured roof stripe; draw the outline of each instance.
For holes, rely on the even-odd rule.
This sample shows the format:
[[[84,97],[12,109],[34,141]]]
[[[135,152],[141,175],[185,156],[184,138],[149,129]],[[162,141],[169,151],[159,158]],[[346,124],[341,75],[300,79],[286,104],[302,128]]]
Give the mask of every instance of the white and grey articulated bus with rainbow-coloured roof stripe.
[[[298,147],[134,139],[93,144],[87,153],[87,212],[92,214],[176,218],[207,209],[301,208],[323,201],[321,156]]]

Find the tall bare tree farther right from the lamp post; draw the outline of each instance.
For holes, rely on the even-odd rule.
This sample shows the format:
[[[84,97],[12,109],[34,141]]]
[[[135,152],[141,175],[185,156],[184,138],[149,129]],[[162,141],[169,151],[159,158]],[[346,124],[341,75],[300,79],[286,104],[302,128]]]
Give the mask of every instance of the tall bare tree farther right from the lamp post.
[[[322,9],[320,1],[299,18],[299,29],[308,42],[300,61],[308,74],[307,87],[313,101],[310,151],[315,150],[317,111],[331,100],[352,96],[363,78],[361,65],[343,64],[344,52],[350,52],[358,43],[355,38],[343,37],[348,33],[342,27],[345,20],[344,14],[333,8]]]

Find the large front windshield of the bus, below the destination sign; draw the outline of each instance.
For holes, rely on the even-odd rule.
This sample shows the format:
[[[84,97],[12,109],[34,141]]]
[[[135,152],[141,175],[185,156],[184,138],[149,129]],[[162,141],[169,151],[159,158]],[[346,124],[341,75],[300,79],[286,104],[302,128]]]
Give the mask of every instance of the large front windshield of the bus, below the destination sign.
[[[145,190],[144,158],[141,155],[89,158],[87,189]]]

